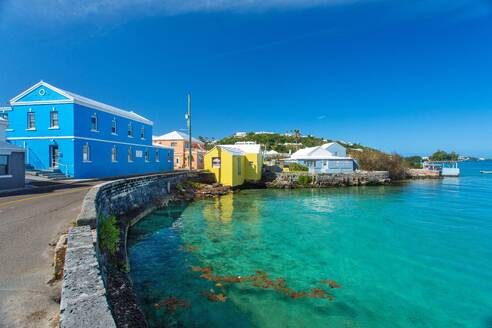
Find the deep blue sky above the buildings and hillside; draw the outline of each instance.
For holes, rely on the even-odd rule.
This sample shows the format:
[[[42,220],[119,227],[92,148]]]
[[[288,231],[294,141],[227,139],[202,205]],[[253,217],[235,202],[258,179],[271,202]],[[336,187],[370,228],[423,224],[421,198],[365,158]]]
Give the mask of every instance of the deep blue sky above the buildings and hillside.
[[[492,156],[488,0],[3,0],[0,40],[2,103],[42,79],[161,134],[191,92],[197,135]]]

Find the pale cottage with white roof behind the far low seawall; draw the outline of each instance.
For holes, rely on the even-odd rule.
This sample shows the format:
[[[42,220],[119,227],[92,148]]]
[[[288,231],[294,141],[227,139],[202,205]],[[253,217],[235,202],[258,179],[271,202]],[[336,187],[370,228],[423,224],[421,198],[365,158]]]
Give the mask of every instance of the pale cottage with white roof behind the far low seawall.
[[[289,161],[307,166],[311,173],[350,173],[357,169],[357,162],[337,142],[300,149]]]

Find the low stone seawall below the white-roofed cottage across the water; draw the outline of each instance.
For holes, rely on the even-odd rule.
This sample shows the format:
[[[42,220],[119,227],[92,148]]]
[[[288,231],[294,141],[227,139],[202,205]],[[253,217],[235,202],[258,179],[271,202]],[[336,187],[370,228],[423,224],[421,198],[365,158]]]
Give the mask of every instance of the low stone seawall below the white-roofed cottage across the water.
[[[387,171],[312,174],[308,172],[275,173],[268,188],[329,188],[339,186],[381,185],[391,182]]]

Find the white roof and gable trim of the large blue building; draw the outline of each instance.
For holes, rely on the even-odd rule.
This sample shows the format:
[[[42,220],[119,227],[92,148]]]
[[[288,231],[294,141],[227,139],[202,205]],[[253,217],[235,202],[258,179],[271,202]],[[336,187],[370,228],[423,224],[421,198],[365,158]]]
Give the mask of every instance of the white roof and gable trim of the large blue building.
[[[45,87],[47,87],[53,91],[56,91],[57,93],[61,94],[62,96],[68,98],[68,100],[53,100],[53,101],[49,101],[49,103],[75,103],[75,104],[87,106],[90,108],[98,109],[100,111],[107,112],[110,114],[115,114],[118,116],[126,117],[128,119],[135,120],[135,121],[138,121],[138,122],[141,122],[144,124],[148,124],[148,125],[154,124],[152,121],[150,121],[150,120],[146,119],[145,117],[140,116],[137,113],[134,113],[132,111],[126,111],[126,110],[123,110],[123,109],[120,109],[117,107],[113,107],[111,105],[104,104],[104,103],[96,101],[96,100],[92,100],[92,99],[80,96],[80,95],[73,93],[73,92],[70,92],[70,91],[62,90],[60,88],[52,86],[49,83],[44,82],[44,81],[40,81],[40,82],[36,83],[35,85],[30,87],[26,91],[24,91],[21,94],[12,98],[10,100],[10,105],[23,105],[23,104],[27,105],[27,104],[38,103],[37,101],[28,101],[28,102],[22,102],[21,101],[21,102],[19,102],[18,100],[21,99],[22,97],[24,97],[25,95],[27,95],[28,93],[30,93],[31,91],[33,91],[34,89],[40,87],[40,86],[45,86]]]

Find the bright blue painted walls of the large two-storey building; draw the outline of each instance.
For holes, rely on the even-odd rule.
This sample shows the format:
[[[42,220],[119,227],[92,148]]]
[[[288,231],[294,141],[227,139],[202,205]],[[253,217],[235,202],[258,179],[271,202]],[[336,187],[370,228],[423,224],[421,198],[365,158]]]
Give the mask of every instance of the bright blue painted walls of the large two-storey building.
[[[39,93],[40,89],[44,92]],[[93,109],[67,101],[64,97],[46,86],[40,86],[17,102],[32,102],[17,105],[12,103],[8,112],[8,140],[26,148],[26,163],[36,169],[50,168],[50,145],[59,149],[59,169],[75,178],[97,178],[126,176],[134,174],[173,171],[174,153],[172,149],[152,146],[152,126],[116,113]],[[35,103],[40,102],[43,103]],[[52,102],[52,103],[50,103]],[[54,102],[54,103],[53,103]],[[46,104],[48,103],[48,104]],[[50,128],[50,112],[58,111],[59,128]],[[27,129],[28,112],[35,112],[36,128]],[[97,131],[91,131],[91,117],[97,116]],[[117,122],[117,134],[112,134],[113,119]],[[128,123],[132,123],[133,137],[128,137]],[[140,136],[144,127],[144,138]],[[90,161],[84,162],[83,145],[88,144]],[[112,161],[113,146],[117,149],[117,162]],[[133,161],[128,161],[131,147]],[[145,161],[145,150],[149,160]],[[156,151],[159,161],[156,161]],[[141,152],[141,157],[137,157]]]

